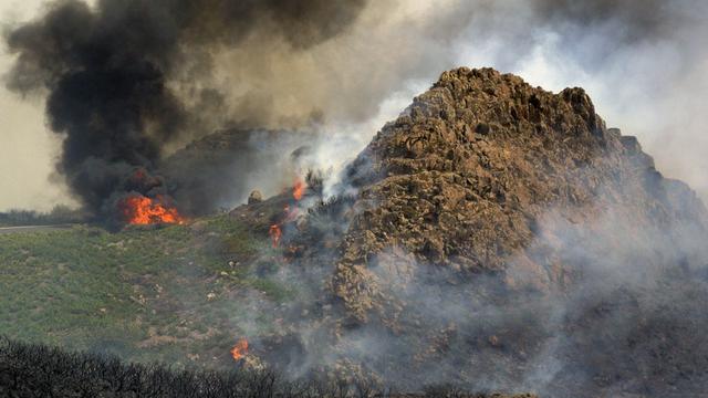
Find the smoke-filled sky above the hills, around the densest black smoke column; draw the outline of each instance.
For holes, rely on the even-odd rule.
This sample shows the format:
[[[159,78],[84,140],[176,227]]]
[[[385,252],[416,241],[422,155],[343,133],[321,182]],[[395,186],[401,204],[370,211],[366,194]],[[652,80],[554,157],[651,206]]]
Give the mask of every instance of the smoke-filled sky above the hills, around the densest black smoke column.
[[[56,126],[56,114],[44,117],[44,100],[63,77],[64,70],[54,66],[76,67],[75,53],[60,50],[66,42],[59,39],[84,38],[88,29],[104,32],[86,24],[96,21],[108,24],[110,32],[122,31],[112,22],[136,23],[147,29],[142,34],[164,40],[160,51],[138,45],[128,52],[119,43],[110,50],[159,66],[164,85],[154,100],[165,108],[155,111],[150,98],[138,105],[150,112],[173,106],[180,118],[150,113],[138,138],[159,137],[163,154],[221,126],[316,126],[326,137],[353,143],[324,148],[321,158],[327,165],[354,156],[444,70],[493,66],[546,90],[583,86],[608,126],[638,136],[660,171],[708,197],[701,172],[708,167],[701,123],[708,107],[706,1],[144,2],[153,4],[142,20],[145,27],[140,20],[112,18],[125,11],[117,4],[140,1],[101,0],[86,9],[90,17],[60,20],[74,30],[37,28],[49,25],[44,20],[34,25],[44,35],[18,36],[12,32],[28,20],[79,1],[0,0],[7,32],[0,55],[0,210],[72,201],[62,182],[66,176],[54,172],[63,136],[51,133],[48,121],[60,133],[66,124]],[[223,4],[235,17],[215,12]],[[179,23],[155,25],[165,21],[160,7],[183,7],[188,15],[171,9],[166,14]],[[140,38],[133,39],[140,43]],[[22,63],[15,63],[19,54],[25,56]],[[165,127],[170,132],[160,132]]]

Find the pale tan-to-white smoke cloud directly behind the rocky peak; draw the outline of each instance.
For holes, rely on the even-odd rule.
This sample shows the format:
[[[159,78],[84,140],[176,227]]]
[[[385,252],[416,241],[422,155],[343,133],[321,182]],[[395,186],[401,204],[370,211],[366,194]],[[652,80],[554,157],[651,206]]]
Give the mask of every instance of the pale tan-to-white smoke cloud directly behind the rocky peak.
[[[586,87],[611,125],[637,135],[660,170],[705,196],[697,170],[706,144],[690,117],[702,112],[700,91],[689,88],[706,84],[705,10],[698,1],[371,3],[346,34],[310,52],[252,52],[274,73],[242,80],[241,92],[296,91],[273,96],[269,109],[289,121],[321,115],[308,128],[324,138],[313,146],[327,169],[351,159],[442,70],[491,65],[554,91]],[[246,53],[225,54],[222,70]],[[330,142],[341,137],[346,144]]]

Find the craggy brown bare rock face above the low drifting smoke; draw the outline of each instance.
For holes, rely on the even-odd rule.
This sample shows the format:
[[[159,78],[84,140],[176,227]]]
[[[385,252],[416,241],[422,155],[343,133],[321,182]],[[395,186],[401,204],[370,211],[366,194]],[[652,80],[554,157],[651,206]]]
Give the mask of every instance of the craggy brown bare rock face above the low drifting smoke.
[[[376,135],[350,182],[360,197],[333,290],[360,321],[388,305],[388,282],[369,271],[381,253],[403,269],[491,272],[546,292],[573,273],[553,231],[535,244],[551,212],[585,238],[608,209],[634,231],[708,224],[695,193],[664,179],[634,137],[607,129],[582,88],[553,94],[490,69],[445,72]]]

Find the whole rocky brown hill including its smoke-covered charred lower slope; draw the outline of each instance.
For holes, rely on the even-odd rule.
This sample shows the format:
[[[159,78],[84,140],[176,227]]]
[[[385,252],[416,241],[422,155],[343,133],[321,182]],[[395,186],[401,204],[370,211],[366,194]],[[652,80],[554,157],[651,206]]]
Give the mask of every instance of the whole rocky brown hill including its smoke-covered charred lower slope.
[[[706,209],[583,90],[445,72],[340,188],[232,212],[280,222],[288,277],[317,286],[275,338],[291,366],[558,397],[708,380]]]

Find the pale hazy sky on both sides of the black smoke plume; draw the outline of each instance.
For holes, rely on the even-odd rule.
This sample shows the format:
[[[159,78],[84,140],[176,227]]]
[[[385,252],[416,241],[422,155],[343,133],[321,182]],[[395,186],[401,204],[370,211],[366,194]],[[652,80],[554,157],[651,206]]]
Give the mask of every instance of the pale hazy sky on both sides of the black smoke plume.
[[[43,2],[0,0],[0,20],[4,25],[25,20]],[[707,4],[374,1],[345,34],[304,53],[247,41],[215,59],[215,81],[235,87],[227,94],[241,116],[251,109],[243,103],[268,104],[283,117],[321,108],[330,116],[329,128],[356,136],[358,146],[450,67],[493,66],[554,92],[582,86],[608,126],[639,137],[660,171],[707,198]],[[250,64],[235,70],[235,60],[244,54]],[[11,61],[3,49],[0,73]],[[42,101],[0,87],[0,210],[67,201],[61,184],[49,182],[59,140],[44,126]]]

